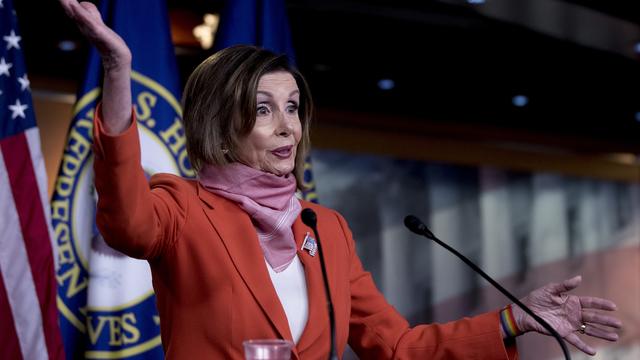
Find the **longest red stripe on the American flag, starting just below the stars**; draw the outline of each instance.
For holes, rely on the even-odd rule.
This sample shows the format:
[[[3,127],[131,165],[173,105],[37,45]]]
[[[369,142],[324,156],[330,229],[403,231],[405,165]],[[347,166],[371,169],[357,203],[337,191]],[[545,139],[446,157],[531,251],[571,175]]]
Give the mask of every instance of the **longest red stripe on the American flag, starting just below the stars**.
[[[20,218],[20,228],[29,258],[31,276],[38,294],[42,326],[49,359],[62,358],[62,338],[56,308],[54,262],[38,182],[24,133],[1,143],[11,191]]]

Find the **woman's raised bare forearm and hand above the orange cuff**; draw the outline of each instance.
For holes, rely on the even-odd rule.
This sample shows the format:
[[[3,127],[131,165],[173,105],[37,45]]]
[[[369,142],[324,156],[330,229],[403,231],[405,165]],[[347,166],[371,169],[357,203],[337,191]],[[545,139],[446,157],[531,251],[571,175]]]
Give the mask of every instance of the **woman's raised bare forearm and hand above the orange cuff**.
[[[84,37],[98,49],[104,67],[102,119],[105,132],[119,134],[131,123],[131,51],[102,21],[95,5],[59,0]]]

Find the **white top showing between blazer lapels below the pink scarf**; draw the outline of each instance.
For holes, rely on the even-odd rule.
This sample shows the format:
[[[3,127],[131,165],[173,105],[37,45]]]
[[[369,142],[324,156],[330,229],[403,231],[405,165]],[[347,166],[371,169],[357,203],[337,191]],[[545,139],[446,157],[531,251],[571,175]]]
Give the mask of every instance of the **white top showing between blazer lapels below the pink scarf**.
[[[298,255],[296,255],[291,264],[279,273],[273,271],[268,263],[267,269],[269,269],[271,282],[284,308],[284,313],[287,315],[293,342],[298,343],[309,318],[309,301],[304,267],[300,259],[298,259]]]

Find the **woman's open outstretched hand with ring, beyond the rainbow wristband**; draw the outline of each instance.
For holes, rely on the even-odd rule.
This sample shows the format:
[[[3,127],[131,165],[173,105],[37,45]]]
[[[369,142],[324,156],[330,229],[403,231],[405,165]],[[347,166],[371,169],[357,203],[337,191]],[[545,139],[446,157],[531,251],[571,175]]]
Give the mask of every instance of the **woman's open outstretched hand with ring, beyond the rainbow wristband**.
[[[592,296],[567,294],[568,291],[578,287],[580,282],[582,282],[582,277],[576,276],[559,284],[547,284],[532,291],[521,301],[536,315],[546,320],[568,343],[589,355],[594,355],[595,350],[587,345],[579,335],[584,334],[616,341],[618,334],[615,329],[620,329],[622,323],[617,318],[601,311],[615,310],[616,304],[612,301]],[[521,331],[549,334],[517,305],[512,305],[512,310],[516,324]],[[583,325],[585,327],[581,330]]]

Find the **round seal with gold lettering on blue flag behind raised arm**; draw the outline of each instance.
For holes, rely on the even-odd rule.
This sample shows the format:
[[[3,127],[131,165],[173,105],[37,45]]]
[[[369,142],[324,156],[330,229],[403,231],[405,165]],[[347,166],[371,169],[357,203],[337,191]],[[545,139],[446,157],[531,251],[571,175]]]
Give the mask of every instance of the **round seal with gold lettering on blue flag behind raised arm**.
[[[132,90],[147,178],[158,172],[193,176],[175,96],[135,71]],[[100,89],[95,88],[76,103],[52,199],[60,259],[58,307],[66,327],[84,343],[85,358],[161,352],[148,263],[110,248],[95,225],[91,145],[99,96]]]

